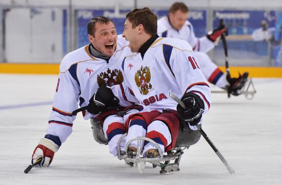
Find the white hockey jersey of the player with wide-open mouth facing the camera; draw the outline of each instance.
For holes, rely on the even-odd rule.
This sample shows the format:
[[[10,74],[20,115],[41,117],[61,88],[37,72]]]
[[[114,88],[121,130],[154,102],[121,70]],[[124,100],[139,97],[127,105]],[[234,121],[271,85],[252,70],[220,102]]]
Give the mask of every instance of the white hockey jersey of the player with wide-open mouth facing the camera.
[[[118,36],[116,51],[108,61],[92,56],[89,47],[90,44],[70,52],[59,67],[47,134],[58,136],[62,143],[72,132],[75,116],[71,113],[78,108],[78,102],[80,107],[87,106],[100,85],[106,83],[112,86],[124,81],[120,66],[124,56],[131,54],[124,38]],[[127,102],[124,105],[132,104]],[[87,111],[83,112],[83,116],[86,120],[95,117]]]

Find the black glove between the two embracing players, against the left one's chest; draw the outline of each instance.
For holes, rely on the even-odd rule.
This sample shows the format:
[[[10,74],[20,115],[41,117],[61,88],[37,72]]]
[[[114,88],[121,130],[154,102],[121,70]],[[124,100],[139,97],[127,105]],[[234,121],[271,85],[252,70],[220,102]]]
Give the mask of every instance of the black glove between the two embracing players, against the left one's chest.
[[[118,102],[112,89],[109,86],[102,85],[90,98],[87,111],[91,114],[98,114],[107,111],[110,107],[119,106]]]

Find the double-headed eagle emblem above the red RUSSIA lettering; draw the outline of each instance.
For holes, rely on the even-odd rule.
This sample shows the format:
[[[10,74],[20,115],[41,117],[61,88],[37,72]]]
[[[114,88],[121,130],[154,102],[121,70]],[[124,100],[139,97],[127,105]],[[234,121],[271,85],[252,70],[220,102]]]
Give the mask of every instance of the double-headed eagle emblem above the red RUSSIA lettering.
[[[150,83],[151,80],[151,73],[149,67],[143,67],[141,66],[140,70],[138,70],[135,73],[135,83],[139,88],[139,91],[143,95],[147,95],[149,92],[149,89],[152,88],[152,85]]]

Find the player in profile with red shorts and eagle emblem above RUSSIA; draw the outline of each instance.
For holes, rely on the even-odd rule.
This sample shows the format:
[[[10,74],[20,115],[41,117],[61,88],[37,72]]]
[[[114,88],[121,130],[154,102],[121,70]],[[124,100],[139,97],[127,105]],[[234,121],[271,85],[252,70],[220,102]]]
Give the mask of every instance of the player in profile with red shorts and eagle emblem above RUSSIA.
[[[126,82],[123,88],[117,85],[111,88],[119,103],[124,102],[125,95],[131,95],[146,110],[126,120],[127,142],[136,136],[146,136],[164,153],[175,146],[179,132],[177,112],[182,119],[193,120],[186,123],[193,130],[202,123],[202,116],[210,107],[210,88],[191,45],[182,39],[158,37],[157,17],[149,8],[129,12],[124,26],[123,37],[129,41],[131,51],[137,53],[123,60]],[[169,92],[180,97],[186,109],[177,106]],[[142,145],[144,157],[159,155],[151,143]],[[133,157],[136,148],[137,142],[132,142],[128,155]]]

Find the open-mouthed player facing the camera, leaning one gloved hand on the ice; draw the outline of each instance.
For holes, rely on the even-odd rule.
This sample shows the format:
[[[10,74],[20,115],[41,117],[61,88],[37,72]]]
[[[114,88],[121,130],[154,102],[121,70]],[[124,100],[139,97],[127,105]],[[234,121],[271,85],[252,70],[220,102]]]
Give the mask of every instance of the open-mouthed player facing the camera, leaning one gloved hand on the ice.
[[[48,167],[51,164],[54,153],[72,133],[73,121],[76,118],[72,111],[77,109],[78,101],[80,107],[88,106],[88,102],[92,102],[92,106],[83,111],[84,119],[97,118],[104,122],[104,133],[108,138],[110,153],[117,155],[117,141],[126,132],[124,118],[116,116],[120,109],[97,110],[98,105],[93,104],[92,95],[99,87],[98,94],[113,98],[111,89],[106,85],[112,86],[124,81],[120,66],[124,55],[131,52],[125,47],[124,38],[117,39],[111,19],[104,16],[92,18],[87,29],[90,44],[67,54],[59,67],[47,133],[33,152],[32,164],[39,158],[42,158],[39,166]],[[130,99],[124,101],[122,105],[132,105],[129,101]],[[104,101],[104,105],[119,106],[116,100]],[[130,112],[138,112],[137,109],[129,109],[128,115]]]

